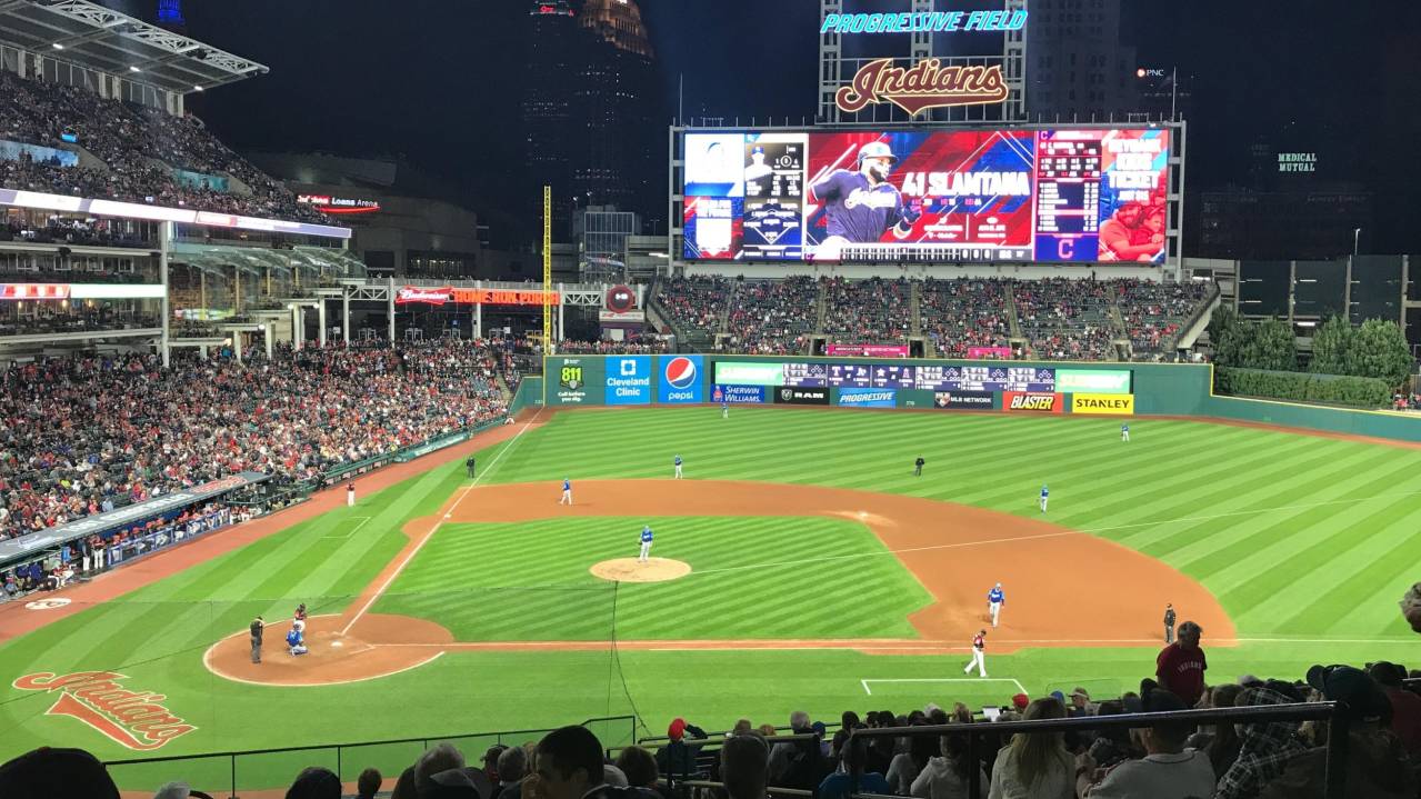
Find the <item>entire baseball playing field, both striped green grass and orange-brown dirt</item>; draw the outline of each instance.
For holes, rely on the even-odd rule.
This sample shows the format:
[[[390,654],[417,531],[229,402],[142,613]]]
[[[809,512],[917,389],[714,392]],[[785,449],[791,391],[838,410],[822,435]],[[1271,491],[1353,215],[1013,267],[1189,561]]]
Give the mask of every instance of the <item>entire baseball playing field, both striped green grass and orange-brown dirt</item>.
[[[144,741],[82,692],[37,690],[37,674],[95,672],[85,680],[161,705],[176,732],[144,746],[162,755],[300,745],[333,724],[352,741],[618,711],[729,725],[733,697],[828,712],[864,681],[921,704],[990,628],[982,596],[998,581],[1012,607],[988,637],[992,680],[953,682],[962,701],[1003,704],[1017,685],[1128,690],[1162,644],[1167,603],[1204,627],[1221,674],[1340,661],[1363,643],[1368,657],[1404,655],[1393,603],[1421,559],[1411,449],[1162,418],[1135,418],[1123,446],[1118,427],[524,411],[365,478],[354,509],[338,486],[78,586],[68,606],[0,607],[0,756],[63,738],[119,758]],[[672,449],[693,475],[666,473]],[[932,463],[922,476],[918,454]],[[577,505],[558,503],[564,476]],[[590,573],[618,557],[635,569],[628,532],[642,525],[689,573]],[[250,663],[252,617],[276,620],[276,641],[297,601],[311,654],[269,647]],[[557,708],[536,701],[550,685]],[[362,711],[396,704],[419,709]]]

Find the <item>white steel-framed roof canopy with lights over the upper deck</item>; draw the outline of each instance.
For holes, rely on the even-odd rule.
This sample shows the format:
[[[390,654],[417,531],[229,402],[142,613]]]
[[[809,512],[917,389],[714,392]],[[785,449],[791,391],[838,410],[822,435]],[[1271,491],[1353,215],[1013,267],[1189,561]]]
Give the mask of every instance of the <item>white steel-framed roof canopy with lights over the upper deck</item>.
[[[0,43],[179,94],[269,71],[88,0],[0,0]]]

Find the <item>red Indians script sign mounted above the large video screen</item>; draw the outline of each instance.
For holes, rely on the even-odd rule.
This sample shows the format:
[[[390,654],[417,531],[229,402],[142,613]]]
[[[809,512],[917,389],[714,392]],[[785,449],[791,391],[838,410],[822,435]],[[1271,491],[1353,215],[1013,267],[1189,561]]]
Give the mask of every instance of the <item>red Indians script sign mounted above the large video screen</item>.
[[[857,114],[877,102],[892,102],[909,115],[948,105],[988,105],[1006,100],[1006,78],[1000,64],[992,67],[944,67],[925,58],[909,68],[892,58],[864,64],[850,85],[840,87],[834,102],[844,114]]]

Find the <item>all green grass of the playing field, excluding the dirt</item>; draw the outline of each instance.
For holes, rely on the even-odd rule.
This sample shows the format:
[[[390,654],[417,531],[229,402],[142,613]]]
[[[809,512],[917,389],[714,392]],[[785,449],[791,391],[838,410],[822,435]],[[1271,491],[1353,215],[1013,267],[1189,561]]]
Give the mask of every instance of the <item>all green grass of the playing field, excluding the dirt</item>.
[[[720,419],[719,408],[617,409],[554,415],[482,452],[479,463],[482,483],[547,481],[554,490],[563,476],[574,483],[669,476],[679,454],[688,479],[843,486],[1027,516],[1037,515],[1036,492],[1047,482],[1052,522],[1158,557],[1221,599],[1243,643],[1209,647],[1205,631],[1214,680],[1297,677],[1313,663],[1405,663],[1414,654],[1415,637],[1395,601],[1421,562],[1414,451],[1148,418],[1131,419],[1130,444],[1118,431],[1118,419],[1104,418],[735,407]],[[912,476],[917,455],[928,461],[922,478]],[[115,670],[131,690],[163,692],[168,707],[199,729],[161,755],[536,728],[631,711],[652,728],[672,715],[713,728],[742,715],[783,722],[796,708],[837,715],[928,699],[1003,701],[1016,692],[1012,682],[892,682],[958,677],[955,657],[848,651],[450,653],[395,677],[324,688],[243,685],[205,670],[207,645],[242,631],[256,613],[286,617],[297,601],[315,613],[345,608],[404,546],[401,526],[433,513],[463,485],[462,463],[431,471],[355,509],[297,525],[0,645],[0,758],[38,744],[85,746],[102,758],[132,755],[74,719],[44,717],[51,695],[9,687],[34,671]],[[460,638],[598,638],[598,630],[612,628],[611,607],[585,599],[607,591],[593,587],[587,563],[634,554],[639,523],[450,525],[375,611],[436,618]],[[803,535],[756,535],[766,523],[655,520],[661,535],[695,532],[689,546],[708,563],[770,563],[809,546],[881,547],[847,522],[813,519],[796,523]],[[615,631],[664,638],[911,634],[902,616],[925,597],[890,562],[867,557],[857,569],[834,562],[813,572],[756,569],[622,587]],[[1091,563],[1061,567],[1079,572],[1083,583],[1110,580]],[[1044,611],[1069,628],[1067,601]],[[1137,685],[1152,671],[1154,653],[1026,650],[989,655],[989,665],[993,678],[1015,680],[1030,692],[1074,684],[1098,692]],[[871,681],[872,695],[863,680]],[[352,778],[360,763],[342,763],[351,768]]]

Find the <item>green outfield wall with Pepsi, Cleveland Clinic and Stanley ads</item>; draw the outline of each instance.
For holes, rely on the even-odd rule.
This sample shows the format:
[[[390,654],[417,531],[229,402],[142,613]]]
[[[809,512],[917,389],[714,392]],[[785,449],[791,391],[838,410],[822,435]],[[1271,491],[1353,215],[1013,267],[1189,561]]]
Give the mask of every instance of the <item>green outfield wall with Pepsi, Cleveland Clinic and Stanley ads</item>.
[[[1223,418],[1421,441],[1421,415],[1214,395],[1208,364],[553,355],[516,405],[766,404]]]

